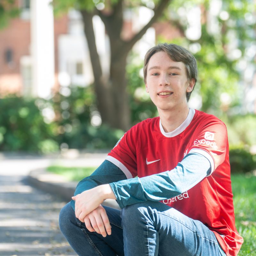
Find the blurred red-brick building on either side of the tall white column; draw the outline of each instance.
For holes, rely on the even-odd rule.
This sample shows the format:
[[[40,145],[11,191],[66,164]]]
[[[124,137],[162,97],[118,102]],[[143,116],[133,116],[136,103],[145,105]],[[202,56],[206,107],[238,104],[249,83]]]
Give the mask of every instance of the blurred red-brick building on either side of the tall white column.
[[[38,96],[33,92],[31,10],[28,0],[17,0],[20,16],[12,19],[8,27],[0,30],[0,94],[16,93]],[[68,31],[68,17],[54,19],[54,74],[52,87],[58,86],[58,38]]]

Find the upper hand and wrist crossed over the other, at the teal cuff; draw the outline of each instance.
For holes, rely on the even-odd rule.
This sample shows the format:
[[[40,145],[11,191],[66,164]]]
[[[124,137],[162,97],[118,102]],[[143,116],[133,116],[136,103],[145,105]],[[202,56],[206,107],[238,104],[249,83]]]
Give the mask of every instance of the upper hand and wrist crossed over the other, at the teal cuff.
[[[83,222],[85,216],[96,209],[107,198],[116,199],[109,184],[100,185],[73,196],[72,199],[76,201],[76,218]]]

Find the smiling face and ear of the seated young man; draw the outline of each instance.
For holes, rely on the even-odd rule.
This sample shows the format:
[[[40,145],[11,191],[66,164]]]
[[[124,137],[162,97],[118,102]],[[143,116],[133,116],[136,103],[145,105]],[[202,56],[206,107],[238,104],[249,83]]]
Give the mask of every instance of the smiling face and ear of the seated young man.
[[[184,63],[173,61],[166,52],[156,52],[148,61],[146,91],[158,112],[186,107],[186,92],[194,85],[194,79],[188,81]]]

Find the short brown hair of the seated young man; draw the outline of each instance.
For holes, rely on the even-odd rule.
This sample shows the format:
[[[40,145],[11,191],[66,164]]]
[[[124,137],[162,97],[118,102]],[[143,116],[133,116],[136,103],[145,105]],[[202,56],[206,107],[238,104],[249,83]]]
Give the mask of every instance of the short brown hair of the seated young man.
[[[146,84],[147,79],[147,68],[148,68],[148,61],[150,58],[156,53],[156,52],[166,52],[168,56],[173,60],[177,62],[183,62],[186,67],[186,72],[188,76],[188,80],[190,81],[192,78],[195,79],[195,85],[197,81],[197,65],[196,65],[196,59],[195,57],[184,47],[179,46],[177,44],[158,44],[151,49],[148,50],[148,52],[145,55],[144,59],[144,68],[143,68],[143,74],[144,74],[144,83]],[[195,86],[194,86],[195,87]],[[193,88],[194,90],[194,88]],[[193,91],[192,90],[192,91]],[[191,91],[191,92],[192,92]],[[186,93],[187,101],[190,98],[191,92]]]

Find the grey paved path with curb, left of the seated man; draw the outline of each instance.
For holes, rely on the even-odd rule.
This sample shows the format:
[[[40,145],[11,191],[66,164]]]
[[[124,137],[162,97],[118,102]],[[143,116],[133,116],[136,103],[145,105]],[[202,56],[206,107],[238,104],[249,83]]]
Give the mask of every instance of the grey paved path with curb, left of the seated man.
[[[107,153],[71,153],[50,157],[0,153],[1,256],[76,255],[58,226],[60,209],[73,195],[76,182],[47,173],[45,167],[97,166]]]

